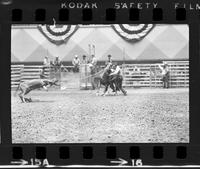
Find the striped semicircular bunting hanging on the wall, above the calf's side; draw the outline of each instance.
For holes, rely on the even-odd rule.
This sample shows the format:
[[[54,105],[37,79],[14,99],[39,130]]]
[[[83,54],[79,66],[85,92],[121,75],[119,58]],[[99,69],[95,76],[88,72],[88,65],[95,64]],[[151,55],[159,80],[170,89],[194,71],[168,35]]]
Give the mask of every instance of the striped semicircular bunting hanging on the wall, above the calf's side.
[[[61,45],[76,32],[78,25],[39,25],[38,29],[50,42]]]

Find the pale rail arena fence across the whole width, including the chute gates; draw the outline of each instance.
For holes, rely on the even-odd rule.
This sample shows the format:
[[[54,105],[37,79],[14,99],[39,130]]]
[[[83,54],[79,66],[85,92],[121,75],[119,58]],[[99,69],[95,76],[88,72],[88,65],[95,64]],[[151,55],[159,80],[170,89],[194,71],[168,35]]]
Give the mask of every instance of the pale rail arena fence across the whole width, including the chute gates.
[[[189,61],[167,61],[166,63],[170,71],[170,87],[189,87]],[[162,87],[159,64],[123,64],[121,67],[124,87]],[[63,66],[61,69],[47,67],[45,76],[57,78],[61,83],[62,77],[65,77],[65,80],[69,82],[70,79],[67,80],[69,73],[67,72],[71,72],[72,68],[72,66]],[[11,87],[15,88],[20,82],[26,80],[39,79],[41,69],[42,65],[11,65]],[[73,76],[72,73],[70,76]],[[80,66],[80,76],[77,78],[80,78],[81,89],[91,88],[92,77],[88,65]]]

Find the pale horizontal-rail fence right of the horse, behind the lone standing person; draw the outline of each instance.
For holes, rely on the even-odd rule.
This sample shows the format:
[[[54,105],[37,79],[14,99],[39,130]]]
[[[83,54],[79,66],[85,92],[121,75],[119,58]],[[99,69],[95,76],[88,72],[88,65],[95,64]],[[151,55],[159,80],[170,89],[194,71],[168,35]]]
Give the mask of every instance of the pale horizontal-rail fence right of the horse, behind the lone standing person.
[[[168,61],[170,87],[189,87],[189,62]],[[162,87],[159,64],[122,65],[125,87]]]

